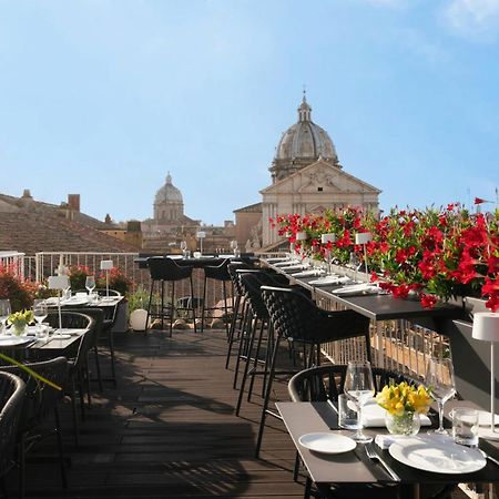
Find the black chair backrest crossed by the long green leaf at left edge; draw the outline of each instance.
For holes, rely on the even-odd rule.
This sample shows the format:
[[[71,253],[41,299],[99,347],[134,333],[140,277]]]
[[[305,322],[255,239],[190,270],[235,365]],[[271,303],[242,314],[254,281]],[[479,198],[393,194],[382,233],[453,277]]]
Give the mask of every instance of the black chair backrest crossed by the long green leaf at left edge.
[[[64,386],[68,380],[68,359],[65,357],[55,357],[41,363],[27,364],[26,366],[61,389],[58,390],[37,379],[19,366],[1,368],[1,371],[11,373],[20,377],[26,384],[24,404],[18,428],[18,431],[21,434],[35,430],[37,426],[41,425],[44,418],[52,414],[55,405],[64,396]]]

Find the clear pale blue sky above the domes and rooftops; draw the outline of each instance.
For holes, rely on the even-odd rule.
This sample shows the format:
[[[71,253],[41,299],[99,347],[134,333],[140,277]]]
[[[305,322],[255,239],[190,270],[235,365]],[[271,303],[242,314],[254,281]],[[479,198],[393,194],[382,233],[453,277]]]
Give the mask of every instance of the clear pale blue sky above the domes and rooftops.
[[[259,201],[304,84],[383,208],[499,185],[499,0],[0,0],[0,192],[98,218]]]

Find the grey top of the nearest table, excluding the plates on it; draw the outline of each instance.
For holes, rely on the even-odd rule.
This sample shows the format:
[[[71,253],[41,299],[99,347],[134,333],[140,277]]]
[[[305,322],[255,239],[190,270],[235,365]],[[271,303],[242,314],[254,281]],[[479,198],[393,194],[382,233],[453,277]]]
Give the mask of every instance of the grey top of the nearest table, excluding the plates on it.
[[[319,490],[327,490],[332,483],[393,482],[381,466],[367,458],[361,445],[357,445],[357,448],[349,452],[323,455],[312,452],[298,442],[299,437],[315,431],[335,431],[352,436],[352,432],[347,430],[330,429],[337,428],[338,420],[327,403],[277,403],[276,406],[312,480]],[[383,428],[367,428],[365,431],[373,436],[386,432]],[[379,448],[376,450],[400,477],[400,486],[407,489],[403,491],[401,497],[419,498],[419,483],[492,483],[499,480],[499,467],[490,461],[487,461],[485,468],[473,473],[432,473],[398,462],[387,450]],[[496,451],[489,448],[486,450],[492,457],[499,458],[497,449]]]

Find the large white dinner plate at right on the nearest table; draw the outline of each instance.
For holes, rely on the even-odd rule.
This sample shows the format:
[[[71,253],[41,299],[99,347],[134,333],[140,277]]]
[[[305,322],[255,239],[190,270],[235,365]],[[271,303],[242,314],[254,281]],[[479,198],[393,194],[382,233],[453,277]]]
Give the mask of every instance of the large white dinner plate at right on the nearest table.
[[[450,438],[441,437],[408,437],[391,444],[388,451],[404,465],[434,473],[471,473],[487,464],[479,450],[459,446]]]

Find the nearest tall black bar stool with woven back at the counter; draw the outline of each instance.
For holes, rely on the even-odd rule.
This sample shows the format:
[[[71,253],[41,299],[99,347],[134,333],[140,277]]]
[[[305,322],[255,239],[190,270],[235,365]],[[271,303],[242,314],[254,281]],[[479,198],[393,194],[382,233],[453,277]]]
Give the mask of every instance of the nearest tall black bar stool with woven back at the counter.
[[[355,337],[364,337],[365,354],[367,359],[370,360],[369,319],[367,317],[354,310],[324,310],[317,307],[307,296],[293,288],[263,286],[262,294],[276,337],[262,408],[262,418],[256,441],[256,457],[259,456],[266,416],[271,415],[281,418],[275,411],[268,409],[268,404],[273,379],[276,374],[277,353],[282,339],[287,339],[291,344],[299,344],[303,346],[305,368],[312,367],[314,364],[320,364],[322,344]]]

